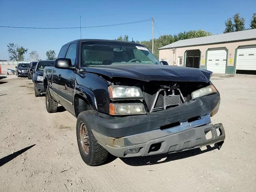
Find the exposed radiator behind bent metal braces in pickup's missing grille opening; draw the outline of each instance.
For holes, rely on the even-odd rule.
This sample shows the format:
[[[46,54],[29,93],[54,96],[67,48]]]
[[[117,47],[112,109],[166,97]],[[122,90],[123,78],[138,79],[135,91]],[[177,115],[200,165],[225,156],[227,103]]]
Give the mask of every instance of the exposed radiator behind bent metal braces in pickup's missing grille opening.
[[[156,93],[149,94],[144,92],[144,100],[148,106],[148,111],[150,111],[151,109],[152,111],[162,110],[166,107],[174,107],[182,104],[180,95],[172,94],[172,95],[164,96],[164,90],[159,92],[158,98],[156,100],[156,104],[153,106],[155,98],[156,98]]]

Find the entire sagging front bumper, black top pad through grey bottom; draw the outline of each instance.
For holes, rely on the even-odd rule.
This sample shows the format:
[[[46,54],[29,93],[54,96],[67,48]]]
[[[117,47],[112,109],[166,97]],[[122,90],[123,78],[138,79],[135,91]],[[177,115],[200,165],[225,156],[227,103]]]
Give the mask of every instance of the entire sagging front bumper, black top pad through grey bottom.
[[[146,115],[88,116],[94,137],[118,157],[148,156],[218,144],[225,139],[222,124],[211,124],[220,105],[220,94],[203,96]],[[217,134],[217,131],[220,134]],[[206,139],[211,132],[212,138]]]

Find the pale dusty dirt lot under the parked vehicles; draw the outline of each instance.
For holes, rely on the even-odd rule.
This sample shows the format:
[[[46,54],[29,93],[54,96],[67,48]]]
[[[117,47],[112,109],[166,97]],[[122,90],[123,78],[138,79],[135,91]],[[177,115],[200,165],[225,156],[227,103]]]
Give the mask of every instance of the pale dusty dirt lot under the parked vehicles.
[[[49,114],[31,80],[0,80],[0,191],[255,191],[256,76],[215,75],[221,94],[213,123],[221,148],[120,159],[90,167],[80,158],[76,118]],[[214,149],[214,150],[213,150]]]

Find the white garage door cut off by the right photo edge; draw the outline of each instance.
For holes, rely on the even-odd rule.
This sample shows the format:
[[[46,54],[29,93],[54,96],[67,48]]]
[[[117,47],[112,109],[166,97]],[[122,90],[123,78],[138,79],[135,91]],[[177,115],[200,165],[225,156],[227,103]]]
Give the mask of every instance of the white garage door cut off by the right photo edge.
[[[236,55],[236,70],[256,70],[256,46],[242,46]]]

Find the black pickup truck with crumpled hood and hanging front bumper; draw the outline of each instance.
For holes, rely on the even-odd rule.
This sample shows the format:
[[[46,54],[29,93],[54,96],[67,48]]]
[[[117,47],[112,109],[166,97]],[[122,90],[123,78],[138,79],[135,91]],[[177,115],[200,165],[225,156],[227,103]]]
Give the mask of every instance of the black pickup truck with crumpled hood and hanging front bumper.
[[[108,152],[149,156],[224,142],[222,124],[211,124],[220,94],[210,71],[162,65],[134,42],[90,39],[62,46],[54,65],[44,68],[46,109],[61,104],[76,116],[78,148],[90,166]]]

